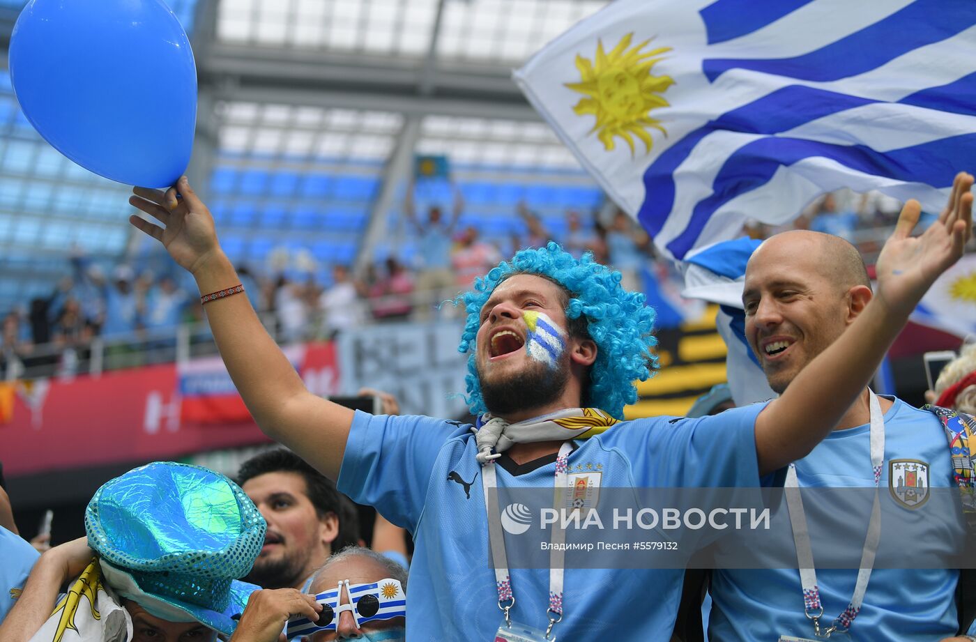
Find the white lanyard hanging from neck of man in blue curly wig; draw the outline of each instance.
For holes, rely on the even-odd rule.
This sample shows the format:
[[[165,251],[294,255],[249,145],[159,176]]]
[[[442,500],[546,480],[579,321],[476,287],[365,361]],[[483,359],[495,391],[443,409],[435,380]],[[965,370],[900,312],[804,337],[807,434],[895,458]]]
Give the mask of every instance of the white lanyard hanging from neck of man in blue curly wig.
[[[556,510],[565,506],[563,491],[568,488],[569,454],[573,451],[573,444],[564,441],[559,447],[559,454],[555,459],[555,479],[553,480]],[[501,512],[498,505],[498,493],[492,492],[498,488],[495,475],[495,460],[483,464],[481,468],[481,487],[484,489],[485,511],[488,514],[488,542],[491,545],[492,558],[495,560],[495,583],[498,588],[498,608],[505,613],[505,622],[511,625],[508,611],[515,606],[515,596],[511,590],[511,578],[508,575],[508,557],[505,553],[505,532],[502,529]],[[549,548],[549,627],[546,629],[546,639],[556,622],[562,620],[562,582],[563,566],[566,557],[566,531],[552,525],[552,546]]]

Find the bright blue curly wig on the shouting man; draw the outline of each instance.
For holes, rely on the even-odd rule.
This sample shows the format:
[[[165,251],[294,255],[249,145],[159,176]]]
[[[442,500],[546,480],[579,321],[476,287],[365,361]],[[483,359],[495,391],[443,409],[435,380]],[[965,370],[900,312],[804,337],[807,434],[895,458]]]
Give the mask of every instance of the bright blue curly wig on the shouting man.
[[[633,382],[646,381],[658,368],[658,357],[651,352],[658,342],[651,334],[654,309],[644,304],[644,295],[621,287],[620,272],[593,261],[589,252],[583,259],[574,259],[551,241],[545,248],[520,250],[511,261],[502,261],[476,279],[474,289],[456,301],[463,303],[468,313],[458,351],[470,351],[466,401],[471,413],[488,412],[473,349],[481,308],[498,284],[515,274],[538,274],[569,293],[566,318],[585,316],[590,339],[597,347],[596,361],[590,367],[587,403],[623,419],[624,406],[637,400]]]

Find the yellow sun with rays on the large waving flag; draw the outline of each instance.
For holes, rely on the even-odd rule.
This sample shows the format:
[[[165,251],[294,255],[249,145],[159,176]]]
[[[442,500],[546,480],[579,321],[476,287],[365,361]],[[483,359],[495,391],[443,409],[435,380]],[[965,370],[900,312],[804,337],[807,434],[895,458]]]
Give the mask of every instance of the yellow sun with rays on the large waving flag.
[[[649,112],[670,106],[661,94],[674,84],[671,76],[651,73],[654,65],[662,60],[661,55],[670,52],[671,47],[641,53],[650,40],[630,47],[632,37],[632,33],[627,34],[609,52],[603,51],[603,41],[598,40],[592,61],[577,54],[576,68],[580,70],[582,81],[565,84],[587,97],[577,102],[573,111],[580,116],[591,114],[596,117],[590,134],[596,132],[596,138],[607,151],[616,147],[615,138],[625,140],[631,156],[634,154],[634,138],[643,141],[646,152],[651,151],[654,140],[648,129],[654,128],[668,136],[661,121],[651,118]]]

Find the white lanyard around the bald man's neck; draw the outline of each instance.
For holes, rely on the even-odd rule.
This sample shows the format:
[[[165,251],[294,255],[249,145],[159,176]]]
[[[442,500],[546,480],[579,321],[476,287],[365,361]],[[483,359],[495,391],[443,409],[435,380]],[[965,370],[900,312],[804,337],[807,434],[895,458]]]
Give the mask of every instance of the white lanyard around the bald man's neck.
[[[874,554],[877,552],[877,543],[881,536],[881,506],[878,502],[877,489],[881,479],[881,464],[884,462],[884,415],[881,414],[881,404],[877,401],[874,391],[869,389],[868,396],[871,409],[871,466],[874,472],[874,505],[871,509],[871,522],[861,552],[861,566],[851,601],[844,612],[837,616],[831,626],[824,631],[820,628],[824,606],[820,601],[817,571],[813,566],[813,550],[810,547],[810,533],[806,527],[806,515],[803,513],[803,501],[800,499],[795,464],[791,463],[787,471],[785,484],[787,506],[790,512],[790,524],[793,526],[799,580],[803,586],[803,612],[809,620],[813,621],[813,629],[817,637],[830,637],[834,631],[846,633],[858,612],[861,611],[861,604],[868,590],[868,581],[871,579],[871,570],[874,568]]]

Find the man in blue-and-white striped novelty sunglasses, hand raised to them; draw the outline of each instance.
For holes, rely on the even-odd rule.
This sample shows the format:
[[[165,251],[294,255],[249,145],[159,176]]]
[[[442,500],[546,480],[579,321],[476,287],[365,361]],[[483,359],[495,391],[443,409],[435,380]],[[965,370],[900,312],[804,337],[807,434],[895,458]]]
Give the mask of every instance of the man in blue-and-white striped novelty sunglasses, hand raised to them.
[[[288,639],[403,642],[406,591],[406,569],[382,553],[348,546],[316,571],[310,594],[292,589],[255,593],[230,642],[278,642],[285,622]],[[304,607],[303,598],[316,604],[317,620],[294,617]]]

